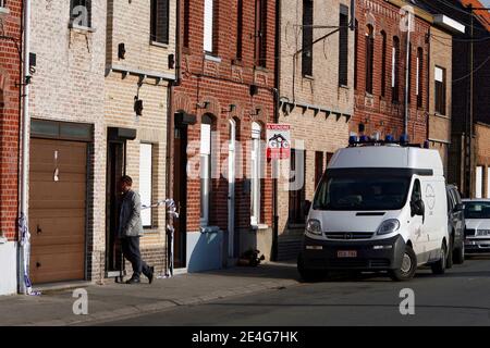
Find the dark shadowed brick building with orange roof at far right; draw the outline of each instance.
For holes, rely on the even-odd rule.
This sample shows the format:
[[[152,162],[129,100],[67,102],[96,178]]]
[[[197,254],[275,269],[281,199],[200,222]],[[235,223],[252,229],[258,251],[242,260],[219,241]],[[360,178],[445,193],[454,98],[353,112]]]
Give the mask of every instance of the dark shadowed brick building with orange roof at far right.
[[[448,179],[456,183],[465,197],[490,197],[486,187],[490,162],[481,154],[489,148],[488,139],[481,135],[487,134],[486,125],[490,125],[490,14],[470,10],[470,5],[483,8],[477,0],[424,3],[466,27],[452,41],[452,144]]]

